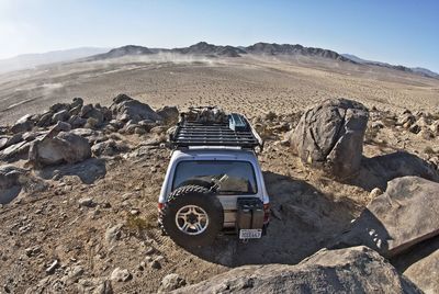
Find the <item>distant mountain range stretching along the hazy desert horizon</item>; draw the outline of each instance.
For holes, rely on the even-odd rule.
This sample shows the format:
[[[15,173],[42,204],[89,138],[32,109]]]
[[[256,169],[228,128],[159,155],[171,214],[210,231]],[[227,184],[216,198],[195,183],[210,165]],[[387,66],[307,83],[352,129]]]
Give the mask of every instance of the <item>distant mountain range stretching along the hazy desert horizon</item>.
[[[117,48],[97,48],[97,47],[81,47],[67,50],[48,52],[43,54],[26,54],[19,55],[13,58],[0,60],[0,74],[36,67],[40,65],[71,61],[75,59],[82,60],[104,60],[111,58],[119,58],[124,56],[142,56],[142,55],[154,55],[159,53],[175,53],[182,55],[202,55],[207,57],[240,57],[247,54],[251,55],[263,55],[263,56],[311,56],[322,57],[338,61],[376,66],[383,68],[390,68],[394,70],[405,71],[418,76],[429,77],[439,79],[439,74],[434,72],[426,68],[420,67],[405,67],[401,65],[390,65],[386,63],[373,61],[362,59],[352,54],[338,54],[334,50],[305,47],[300,44],[275,44],[275,43],[256,43],[250,46],[222,46],[209,44],[206,42],[199,42],[189,47],[180,48],[148,48],[137,45],[126,45]]]

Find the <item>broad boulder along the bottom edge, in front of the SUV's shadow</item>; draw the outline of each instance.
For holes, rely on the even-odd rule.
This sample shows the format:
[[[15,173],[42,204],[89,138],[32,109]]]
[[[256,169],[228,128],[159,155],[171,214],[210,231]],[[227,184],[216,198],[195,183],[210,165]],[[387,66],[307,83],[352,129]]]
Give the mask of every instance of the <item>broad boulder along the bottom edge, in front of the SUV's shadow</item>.
[[[421,293],[367,247],[323,249],[296,265],[245,265],[175,293]]]

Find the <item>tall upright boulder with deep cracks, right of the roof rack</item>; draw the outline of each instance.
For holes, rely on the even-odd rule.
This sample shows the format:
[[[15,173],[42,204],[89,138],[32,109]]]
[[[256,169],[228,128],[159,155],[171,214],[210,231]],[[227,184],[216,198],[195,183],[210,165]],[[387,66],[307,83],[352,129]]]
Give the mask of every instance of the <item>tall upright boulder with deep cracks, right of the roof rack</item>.
[[[291,133],[290,145],[302,162],[346,179],[361,165],[368,109],[347,99],[329,99],[307,110]]]

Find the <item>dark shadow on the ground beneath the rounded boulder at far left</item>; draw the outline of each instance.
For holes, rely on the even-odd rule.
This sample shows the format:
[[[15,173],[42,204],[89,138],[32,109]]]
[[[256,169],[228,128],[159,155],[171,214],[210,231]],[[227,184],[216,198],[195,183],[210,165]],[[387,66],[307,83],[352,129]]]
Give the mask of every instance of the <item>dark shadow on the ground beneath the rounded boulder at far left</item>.
[[[38,171],[38,176],[46,180],[58,180],[65,176],[77,176],[86,184],[91,184],[95,180],[104,178],[105,174],[105,160],[100,158],[90,158],[74,165],[46,167]]]

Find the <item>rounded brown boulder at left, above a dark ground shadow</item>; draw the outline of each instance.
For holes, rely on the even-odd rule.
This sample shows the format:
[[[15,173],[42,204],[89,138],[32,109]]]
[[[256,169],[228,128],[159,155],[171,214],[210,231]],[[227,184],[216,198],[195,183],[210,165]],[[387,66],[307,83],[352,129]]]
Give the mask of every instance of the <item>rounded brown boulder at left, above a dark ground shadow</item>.
[[[35,167],[75,163],[91,157],[89,142],[71,132],[53,129],[42,139],[32,143],[29,150],[30,163]]]

